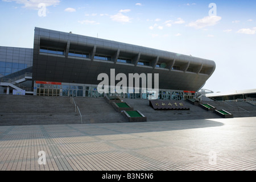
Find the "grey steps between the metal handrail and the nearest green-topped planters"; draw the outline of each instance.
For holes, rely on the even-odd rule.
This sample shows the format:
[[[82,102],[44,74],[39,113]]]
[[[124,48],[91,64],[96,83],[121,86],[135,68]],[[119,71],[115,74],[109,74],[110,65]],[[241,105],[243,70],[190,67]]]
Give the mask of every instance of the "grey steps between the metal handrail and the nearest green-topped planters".
[[[74,97],[74,100],[79,106],[82,123],[127,122],[104,98]]]

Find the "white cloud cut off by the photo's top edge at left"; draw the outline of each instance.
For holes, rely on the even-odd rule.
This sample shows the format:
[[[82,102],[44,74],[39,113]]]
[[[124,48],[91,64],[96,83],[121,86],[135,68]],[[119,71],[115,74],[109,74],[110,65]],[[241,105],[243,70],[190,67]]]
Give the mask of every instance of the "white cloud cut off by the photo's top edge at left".
[[[60,1],[59,0],[8,0],[5,2],[16,2],[18,4],[22,4],[24,6],[24,8],[26,9],[34,9],[34,10],[38,10],[38,5],[40,3],[44,3],[46,5],[46,7],[48,6],[54,6],[54,5],[59,5]]]

